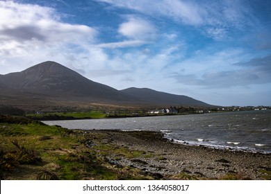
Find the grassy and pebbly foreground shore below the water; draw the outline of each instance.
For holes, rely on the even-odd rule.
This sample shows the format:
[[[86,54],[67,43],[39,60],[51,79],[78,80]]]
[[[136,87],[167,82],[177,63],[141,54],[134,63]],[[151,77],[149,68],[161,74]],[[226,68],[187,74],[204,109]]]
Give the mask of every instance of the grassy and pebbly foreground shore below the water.
[[[160,132],[0,116],[0,138],[1,179],[271,179],[271,155],[177,145]]]

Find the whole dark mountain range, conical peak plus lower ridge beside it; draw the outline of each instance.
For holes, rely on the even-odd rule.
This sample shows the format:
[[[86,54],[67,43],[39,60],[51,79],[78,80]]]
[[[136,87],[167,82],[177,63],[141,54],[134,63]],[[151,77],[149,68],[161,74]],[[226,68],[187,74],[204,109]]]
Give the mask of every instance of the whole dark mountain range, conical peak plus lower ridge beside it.
[[[24,71],[0,75],[0,105],[20,107],[119,105],[201,105],[188,96],[152,89],[117,90],[81,76],[56,62],[42,62]]]

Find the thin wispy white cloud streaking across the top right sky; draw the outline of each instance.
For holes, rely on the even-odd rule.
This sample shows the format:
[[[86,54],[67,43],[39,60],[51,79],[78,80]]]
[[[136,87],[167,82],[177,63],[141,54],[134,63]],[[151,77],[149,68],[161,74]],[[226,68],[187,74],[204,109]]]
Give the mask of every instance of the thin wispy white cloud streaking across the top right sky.
[[[204,35],[220,40],[227,32],[252,26],[256,20],[248,3],[229,1],[184,0],[97,0],[118,8],[134,10],[151,17],[166,17],[176,24],[194,26]]]

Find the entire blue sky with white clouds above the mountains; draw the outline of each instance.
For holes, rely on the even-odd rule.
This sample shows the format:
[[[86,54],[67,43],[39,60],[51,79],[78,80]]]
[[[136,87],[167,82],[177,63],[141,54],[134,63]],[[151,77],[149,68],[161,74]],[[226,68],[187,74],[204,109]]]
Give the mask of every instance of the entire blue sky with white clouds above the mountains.
[[[0,74],[55,61],[115,89],[271,105],[270,0],[0,0]]]

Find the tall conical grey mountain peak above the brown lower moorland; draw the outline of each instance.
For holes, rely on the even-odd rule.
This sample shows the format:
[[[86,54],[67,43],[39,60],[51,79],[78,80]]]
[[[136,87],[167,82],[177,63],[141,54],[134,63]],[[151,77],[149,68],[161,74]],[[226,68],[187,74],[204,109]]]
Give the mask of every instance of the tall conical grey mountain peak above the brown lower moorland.
[[[106,85],[93,82],[56,62],[42,62],[24,71],[1,76],[10,89],[49,96],[88,97],[92,99],[129,100],[129,96]]]

